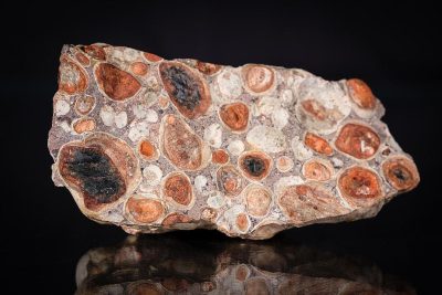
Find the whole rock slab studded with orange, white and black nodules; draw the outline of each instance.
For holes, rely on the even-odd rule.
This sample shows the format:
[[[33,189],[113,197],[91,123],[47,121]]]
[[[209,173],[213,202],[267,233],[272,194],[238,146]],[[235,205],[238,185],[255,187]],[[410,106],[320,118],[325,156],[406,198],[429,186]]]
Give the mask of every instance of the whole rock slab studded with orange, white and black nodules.
[[[49,149],[88,218],[128,233],[267,239],[369,218],[418,170],[357,78],[65,45]]]

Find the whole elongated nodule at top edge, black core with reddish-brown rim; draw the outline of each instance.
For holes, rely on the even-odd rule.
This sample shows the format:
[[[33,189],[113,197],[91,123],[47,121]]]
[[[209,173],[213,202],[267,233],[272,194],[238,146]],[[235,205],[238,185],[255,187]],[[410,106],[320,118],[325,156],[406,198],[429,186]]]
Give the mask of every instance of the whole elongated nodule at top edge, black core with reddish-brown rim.
[[[162,62],[159,73],[170,99],[185,117],[194,119],[206,114],[210,92],[198,72],[179,62]]]

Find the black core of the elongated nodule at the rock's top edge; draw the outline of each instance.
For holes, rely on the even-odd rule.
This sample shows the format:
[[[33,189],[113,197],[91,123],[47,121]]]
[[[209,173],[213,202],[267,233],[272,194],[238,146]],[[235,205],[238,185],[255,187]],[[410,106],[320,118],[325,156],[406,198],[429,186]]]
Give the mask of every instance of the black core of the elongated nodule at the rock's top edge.
[[[172,94],[177,103],[187,109],[196,108],[201,101],[201,95],[194,80],[177,66],[167,67],[164,72],[173,86]]]

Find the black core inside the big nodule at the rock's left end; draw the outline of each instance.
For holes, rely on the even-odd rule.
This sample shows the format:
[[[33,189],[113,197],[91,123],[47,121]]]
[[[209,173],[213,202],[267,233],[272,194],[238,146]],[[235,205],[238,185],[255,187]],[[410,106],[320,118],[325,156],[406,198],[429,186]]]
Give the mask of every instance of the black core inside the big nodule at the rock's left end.
[[[82,189],[101,203],[115,201],[124,183],[110,160],[95,148],[78,148],[67,162],[72,175],[82,183]]]

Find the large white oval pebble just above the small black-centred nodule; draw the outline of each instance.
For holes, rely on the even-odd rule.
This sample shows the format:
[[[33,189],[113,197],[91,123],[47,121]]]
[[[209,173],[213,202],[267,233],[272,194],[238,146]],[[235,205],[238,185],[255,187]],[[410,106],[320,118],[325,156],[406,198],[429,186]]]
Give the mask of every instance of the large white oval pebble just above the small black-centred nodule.
[[[248,133],[246,140],[265,152],[280,152],[286,147],[285,135],[273,127],[257,125]]]

